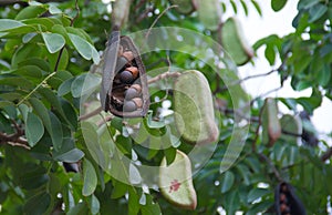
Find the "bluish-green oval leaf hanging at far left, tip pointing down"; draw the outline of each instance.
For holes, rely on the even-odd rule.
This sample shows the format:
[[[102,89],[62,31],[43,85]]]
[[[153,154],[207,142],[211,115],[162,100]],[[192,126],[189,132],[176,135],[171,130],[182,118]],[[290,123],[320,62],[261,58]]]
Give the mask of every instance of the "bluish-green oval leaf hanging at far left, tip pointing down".
[[[29,112],[25,121],[25,135],[28,143],[33,147],[43,136],[44,126],[42,121],[35,114]]]

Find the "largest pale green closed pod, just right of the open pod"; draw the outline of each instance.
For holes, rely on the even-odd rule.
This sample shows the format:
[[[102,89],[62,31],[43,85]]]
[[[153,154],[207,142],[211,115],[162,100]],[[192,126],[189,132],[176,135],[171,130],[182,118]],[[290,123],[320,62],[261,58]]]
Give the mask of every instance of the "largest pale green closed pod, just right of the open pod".
[[[207,144],[218,140],[211,91],[203,73],[189,70],[177,78],[174,110],[175,124],[186,142]]]

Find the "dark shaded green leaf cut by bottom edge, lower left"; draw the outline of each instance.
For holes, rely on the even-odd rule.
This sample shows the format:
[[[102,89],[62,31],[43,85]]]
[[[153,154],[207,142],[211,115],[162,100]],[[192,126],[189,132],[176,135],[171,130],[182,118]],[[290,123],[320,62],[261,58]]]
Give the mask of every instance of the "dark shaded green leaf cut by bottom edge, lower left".
[[[24,214],[44,214],[51,204],[51,196],[48,193],[39,193],[30,197],[24,205]]]

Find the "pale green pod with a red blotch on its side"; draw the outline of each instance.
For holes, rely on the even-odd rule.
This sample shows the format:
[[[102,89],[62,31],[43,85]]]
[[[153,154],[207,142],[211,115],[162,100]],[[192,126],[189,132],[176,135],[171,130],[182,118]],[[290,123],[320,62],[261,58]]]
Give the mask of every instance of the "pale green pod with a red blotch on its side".
[[[191,163],[185,153],[177,151],[175,160],[168,166],[166,157],[163,158],[159,188],[169,203],[186,209],[196,208],[197,196],[193,185]]]

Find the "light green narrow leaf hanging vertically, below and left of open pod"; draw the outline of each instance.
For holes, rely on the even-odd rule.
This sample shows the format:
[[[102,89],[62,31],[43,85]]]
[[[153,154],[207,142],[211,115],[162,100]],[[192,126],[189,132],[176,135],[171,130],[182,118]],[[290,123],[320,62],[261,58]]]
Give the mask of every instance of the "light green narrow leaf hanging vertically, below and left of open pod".
[[[89,196],[93,194],[97,185],[97,176],[92,163],[86,158],[83,162],[83,182],[84,185],[83,185],[82,194],[84,196]]]

